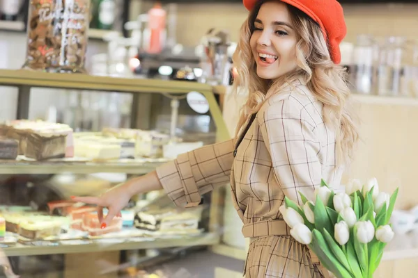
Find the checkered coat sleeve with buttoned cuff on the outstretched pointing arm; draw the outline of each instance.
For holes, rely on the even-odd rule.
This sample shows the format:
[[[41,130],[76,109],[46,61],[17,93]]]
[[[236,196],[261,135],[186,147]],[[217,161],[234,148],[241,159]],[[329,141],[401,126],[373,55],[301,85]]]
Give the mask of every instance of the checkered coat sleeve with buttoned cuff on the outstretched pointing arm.
[[[157,176],[177,206],[197,206],[201,195],[228,183],[233,163],[233,140],[180,154],[157,167]]]

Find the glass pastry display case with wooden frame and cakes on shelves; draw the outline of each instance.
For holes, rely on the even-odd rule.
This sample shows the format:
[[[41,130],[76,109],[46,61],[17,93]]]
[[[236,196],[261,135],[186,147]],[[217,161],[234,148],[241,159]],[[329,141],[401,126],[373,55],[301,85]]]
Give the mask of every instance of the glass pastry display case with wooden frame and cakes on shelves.
[[[141,93],[200,92],[215,122],[214,139],[229,138],[209,85],[26,70],[0,70],[0,83],[18,88],[17,120],[0,126],[0,144],[8,146],[0,154],[0,229],[1,224],[4,227],[0,254],[8,258],[3,261],[6,273],[148,277],[147,266],[220,242],[223,199],[219,190],[203,196],[199,208],[187,211],[176,208],[164,193],[135,196],[106,229],[100,229],[94,206],[70,201],[72,195],[100,195],[154,170],[170,159],[164,155],[170,146],[180,144],[170,135],[135,128],[141,121],[135,111],[144,106],[138,101]],[[33,87],[130,93],[135,115],[130,128],[104,127],[94,132],[27,120],[30,98],[36,97]],[[162,272],[154,275],[164,277]]]

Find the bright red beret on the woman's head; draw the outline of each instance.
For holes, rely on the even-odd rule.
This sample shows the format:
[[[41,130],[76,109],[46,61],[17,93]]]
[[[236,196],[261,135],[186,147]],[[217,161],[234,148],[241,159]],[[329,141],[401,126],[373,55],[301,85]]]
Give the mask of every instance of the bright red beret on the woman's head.
[[[242,0],[247,10],[252,10],[258,0]],[[341,62],[339,44],[346,36],[343,8],[336,0],[280,0],[288,3],[314,19],[322,29],[332,61]]]

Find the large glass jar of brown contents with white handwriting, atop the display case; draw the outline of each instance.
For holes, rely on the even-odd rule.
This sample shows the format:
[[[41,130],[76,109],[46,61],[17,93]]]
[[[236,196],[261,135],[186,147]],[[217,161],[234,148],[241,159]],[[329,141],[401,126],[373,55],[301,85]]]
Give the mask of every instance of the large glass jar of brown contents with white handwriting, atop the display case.
[[[31,0],[25,69],[86,72],[90,0]]]

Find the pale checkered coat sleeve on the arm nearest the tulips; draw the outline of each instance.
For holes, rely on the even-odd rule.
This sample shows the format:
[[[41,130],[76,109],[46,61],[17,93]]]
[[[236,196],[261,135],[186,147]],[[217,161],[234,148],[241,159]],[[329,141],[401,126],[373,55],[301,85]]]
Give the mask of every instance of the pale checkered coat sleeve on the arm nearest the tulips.
[[[299,191],[314,200],[322,167],[318,158],[320,142],[311,115],[295,99],[281,99],[261,108],[258,124],[272,159],[274,177],[284,195],[297,204],[302,204]]]

